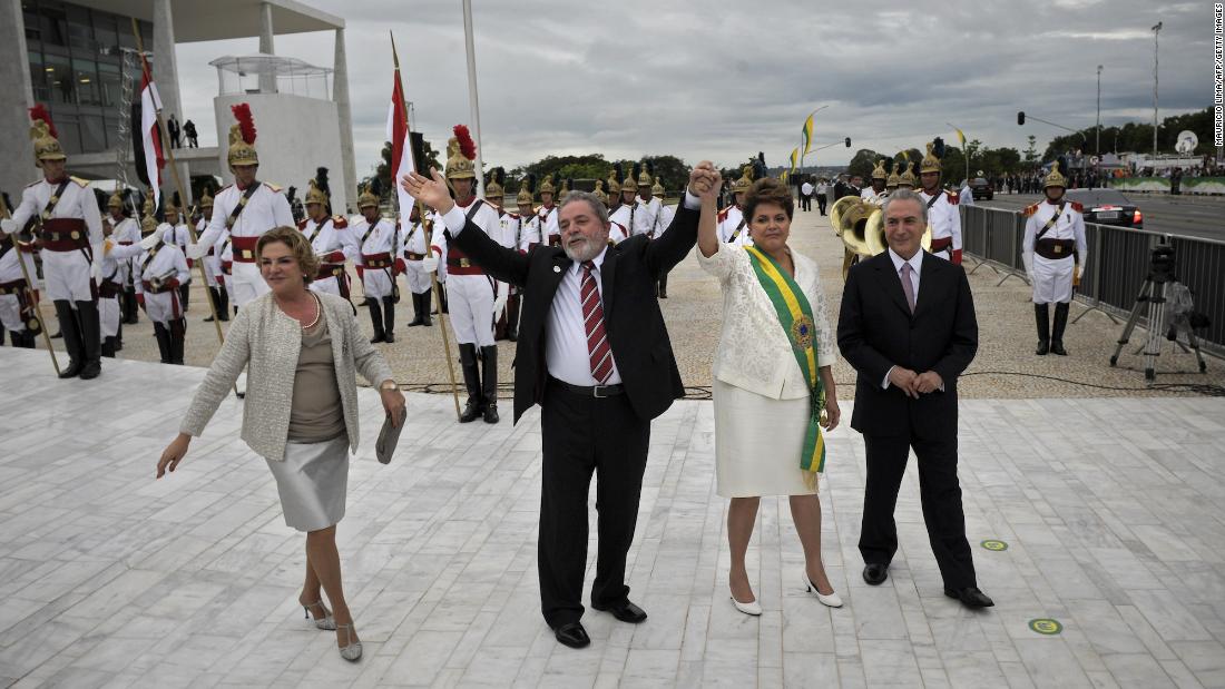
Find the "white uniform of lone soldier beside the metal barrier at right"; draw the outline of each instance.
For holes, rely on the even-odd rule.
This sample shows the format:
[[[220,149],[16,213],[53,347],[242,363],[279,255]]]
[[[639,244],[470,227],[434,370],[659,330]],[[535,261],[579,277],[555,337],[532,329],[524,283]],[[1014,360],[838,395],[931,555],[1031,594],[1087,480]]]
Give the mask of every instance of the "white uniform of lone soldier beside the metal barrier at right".
[[[1047,199],[1025,208],[1024,213],[1029,219],[1025,220],[1022,258],[1034,285],[1034,304],[1072,301],[1077,261],[1083,272],[1089,257],[1080,204],[1066,199],[1051,203]],[[1047,225],[1049,229],[1042,233]],[[1040,233],[1041,240],[1038,239]]]

